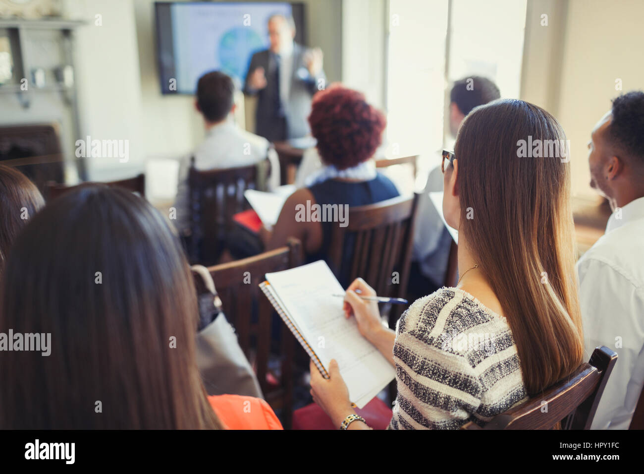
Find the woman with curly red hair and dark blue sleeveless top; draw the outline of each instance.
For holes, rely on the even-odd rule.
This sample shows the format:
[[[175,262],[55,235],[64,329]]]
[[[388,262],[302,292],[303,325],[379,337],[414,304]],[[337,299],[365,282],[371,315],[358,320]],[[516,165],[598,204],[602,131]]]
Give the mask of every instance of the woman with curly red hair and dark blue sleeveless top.
[[[367,103],[365,95],[332,84],[314,96],[308,123],[325,166],[310,186],[297,190],[287,199],[270,235],[268,248],[277,248],[289,237],[296,237],[303,244],[307,261],[328,262],[331,228],[343,222],[301,219],[301,210],[314,209],[316,204],[337,204],[338,208],[344,204],[365,206],[397,197],[399,193],[390,179],[375,170],[373,157],[381,144],[386,119]],[[343,260],[352,257],[348,255],[350,249],[350,245],[345,246]],[[343,281],[343,275],[338,275],[336,268],[332,270],[341,284],[349,283]]]

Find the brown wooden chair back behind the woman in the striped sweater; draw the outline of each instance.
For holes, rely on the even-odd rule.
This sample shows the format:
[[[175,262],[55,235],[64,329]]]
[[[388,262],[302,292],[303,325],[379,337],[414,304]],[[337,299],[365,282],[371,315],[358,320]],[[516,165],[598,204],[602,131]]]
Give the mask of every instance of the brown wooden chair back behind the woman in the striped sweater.
[[[606,346],[596,348],[589,363],[582,364],[566,380],[524,404],[491,419],[484,428],[474,422],[463,430],[550,430],[562,422],[563,430],[590,430],[617,354]],[[547,403],[547,411],[542,411]]]

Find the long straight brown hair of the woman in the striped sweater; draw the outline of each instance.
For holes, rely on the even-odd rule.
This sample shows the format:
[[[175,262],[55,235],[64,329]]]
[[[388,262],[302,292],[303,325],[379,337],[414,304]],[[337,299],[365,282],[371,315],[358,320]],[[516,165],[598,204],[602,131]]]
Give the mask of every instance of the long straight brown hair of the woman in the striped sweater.
[[[522,154],[536,140],[542,156]],[[531,395],[583,358],[566,143],[542,108],[501,100],[471,112],[455,144],[459,231],[500,301]]]

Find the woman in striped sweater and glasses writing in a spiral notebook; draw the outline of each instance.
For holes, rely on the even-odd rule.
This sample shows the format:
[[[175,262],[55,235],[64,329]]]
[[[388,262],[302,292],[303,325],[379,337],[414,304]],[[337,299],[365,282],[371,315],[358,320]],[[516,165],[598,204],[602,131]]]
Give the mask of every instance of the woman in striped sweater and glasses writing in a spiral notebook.
[[[397,371],[391,429],[485,424],[582,362],[570,166],[518,157],[528,137],[565,140],[545,110],[495,101],[468,115],[455,153],[444,153],[443,212],[459,230],[456,288],[414,302],[395,332],[382,326],[375,302],[355,293],[374,295],[366,282],[346,291],[347,317]],[[338,428],[368,429],[352,416],[337,364],[328,380],[312,367],[311,387]]]

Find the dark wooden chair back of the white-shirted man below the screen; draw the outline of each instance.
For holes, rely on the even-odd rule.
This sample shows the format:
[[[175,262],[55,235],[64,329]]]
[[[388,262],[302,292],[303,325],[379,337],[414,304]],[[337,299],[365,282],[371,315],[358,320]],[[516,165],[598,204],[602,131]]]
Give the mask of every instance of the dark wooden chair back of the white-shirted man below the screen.
[[[260,166],[270,173],[270,162],[238,168],[198,171],[194,157],[188,174],[190,232],[184,236],[191,263],[212,265],[225,248],[232,230],[232,216],[250,205],[243,192],[260,188]]]

